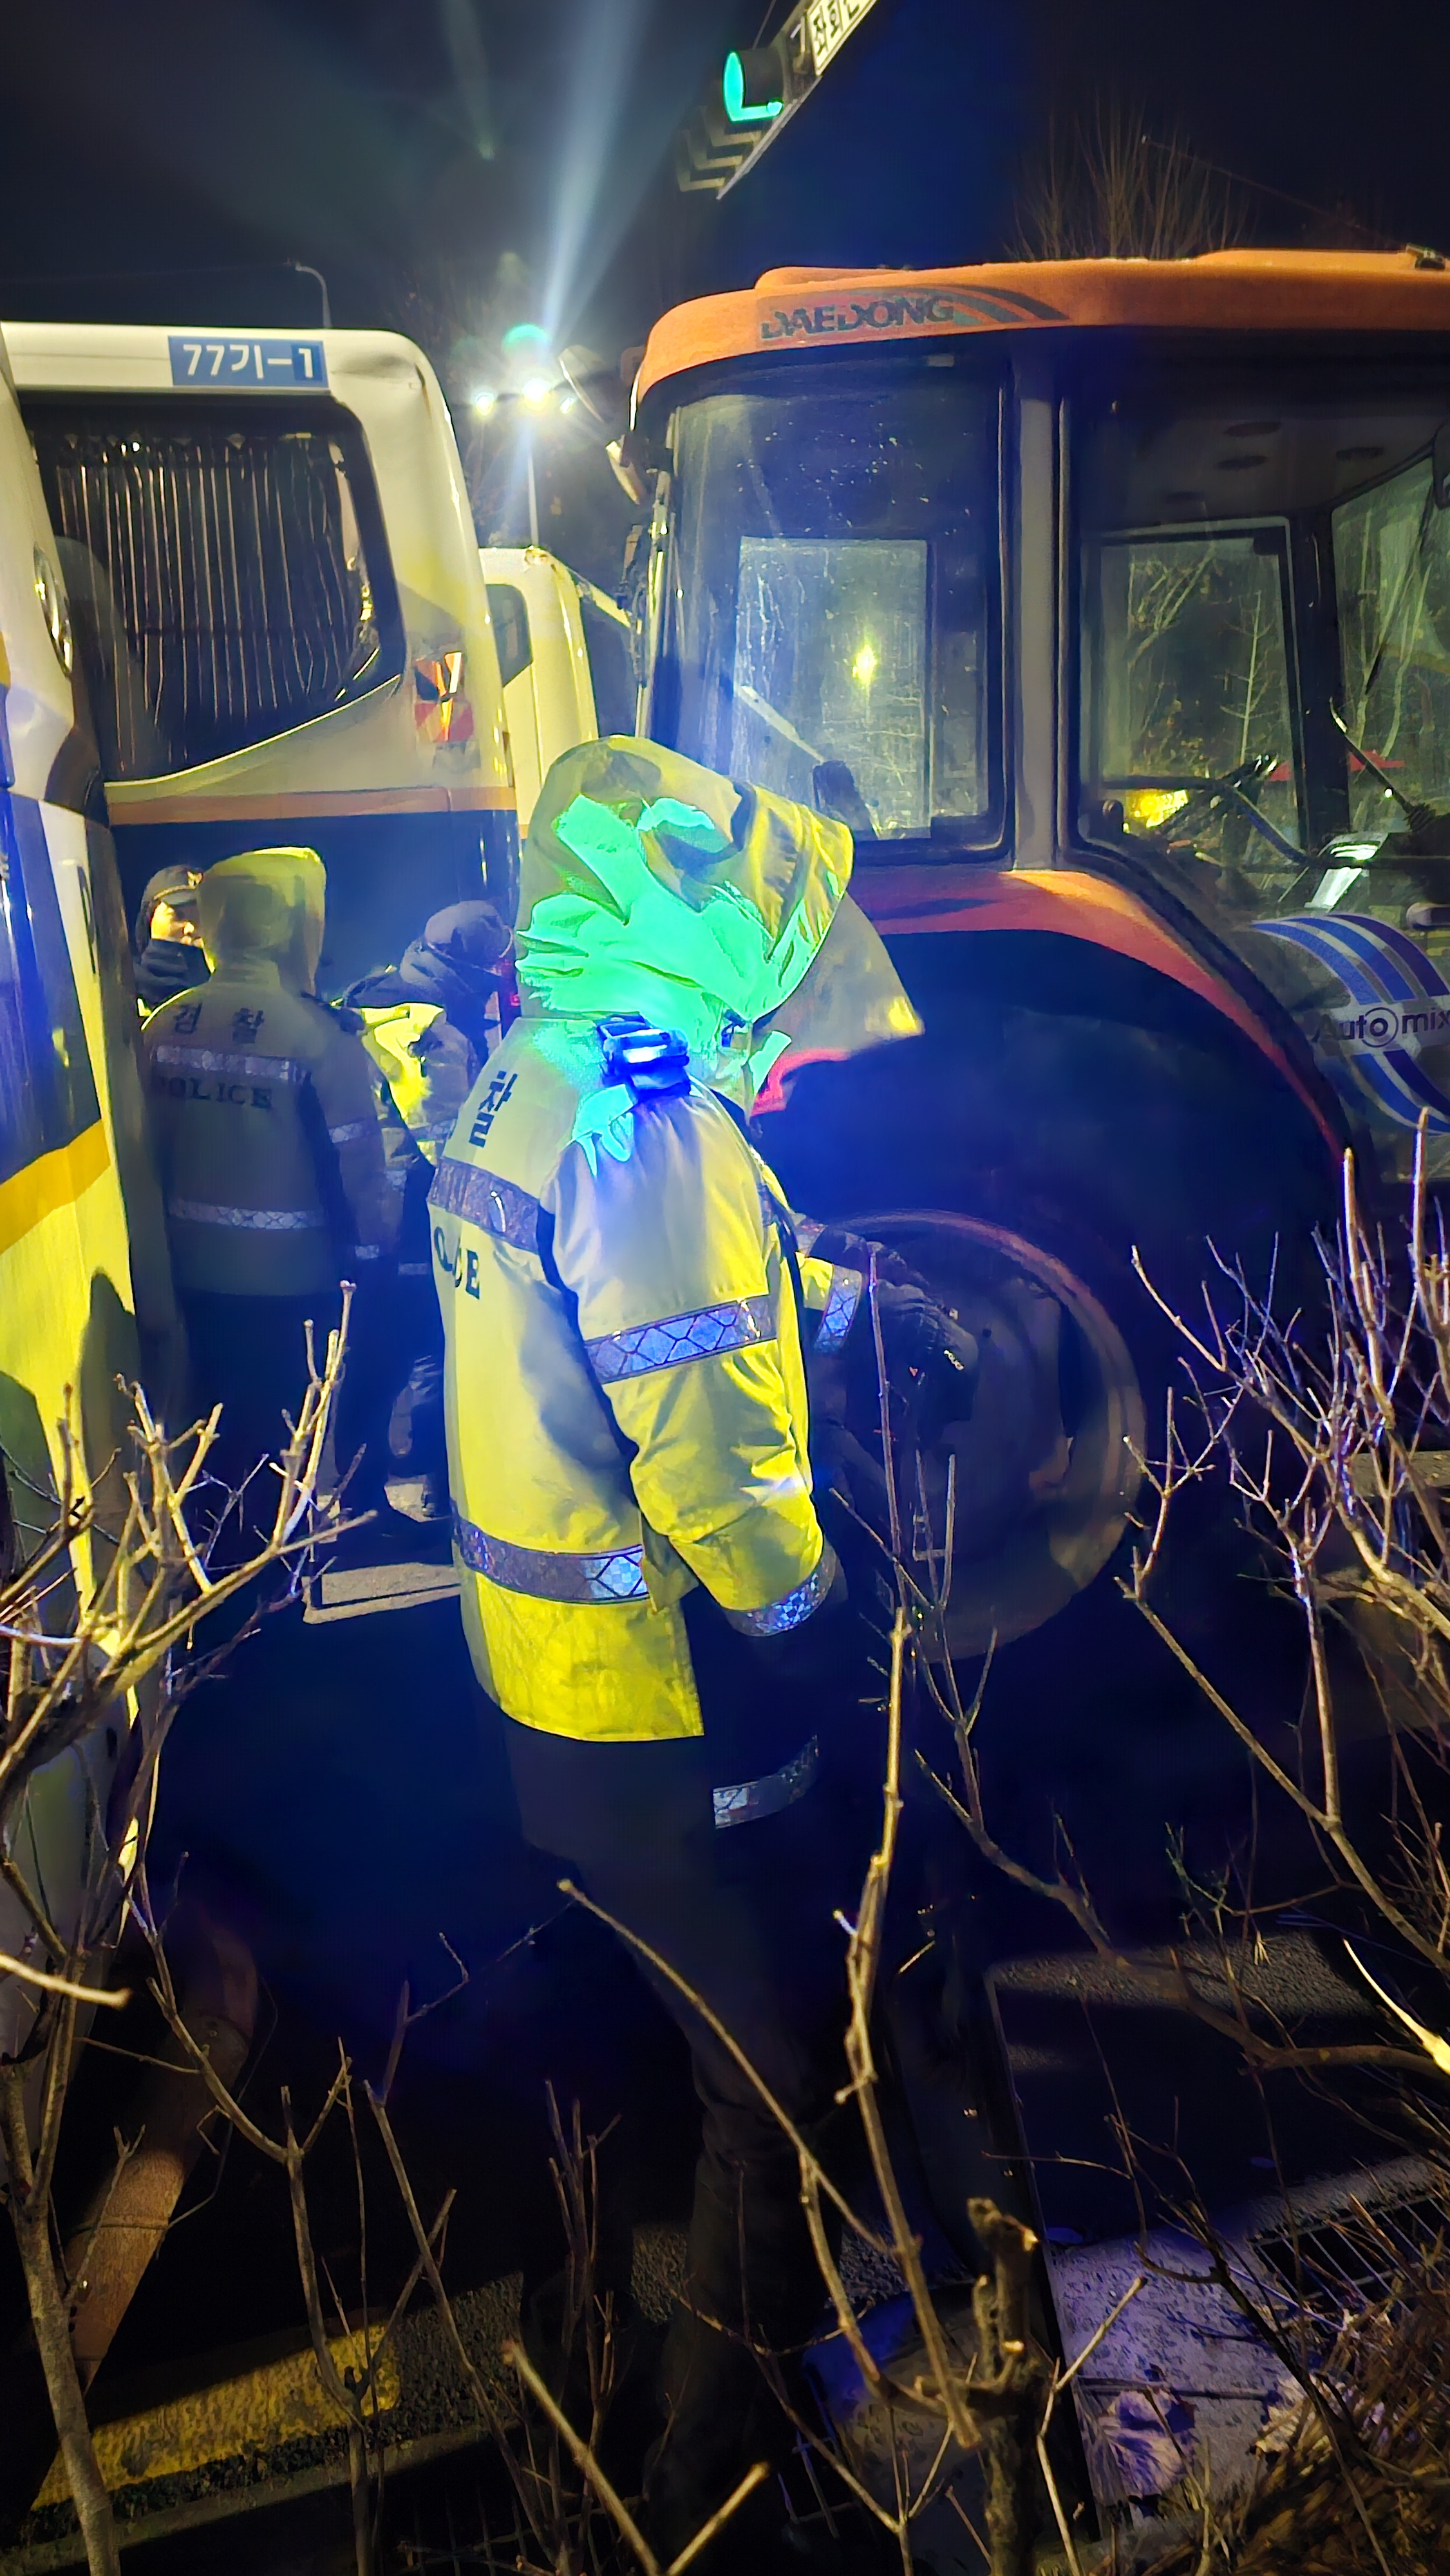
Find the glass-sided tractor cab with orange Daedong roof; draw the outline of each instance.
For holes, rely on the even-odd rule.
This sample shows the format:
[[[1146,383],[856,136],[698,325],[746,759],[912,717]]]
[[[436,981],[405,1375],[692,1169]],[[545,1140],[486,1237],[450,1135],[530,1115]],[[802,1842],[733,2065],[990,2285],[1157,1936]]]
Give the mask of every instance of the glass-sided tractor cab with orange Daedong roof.
[[[1440,260],[773,270],[657,325],[628,459],[649,732],[899,935],[1131,912],[1316,1123],[1450,1133]]]

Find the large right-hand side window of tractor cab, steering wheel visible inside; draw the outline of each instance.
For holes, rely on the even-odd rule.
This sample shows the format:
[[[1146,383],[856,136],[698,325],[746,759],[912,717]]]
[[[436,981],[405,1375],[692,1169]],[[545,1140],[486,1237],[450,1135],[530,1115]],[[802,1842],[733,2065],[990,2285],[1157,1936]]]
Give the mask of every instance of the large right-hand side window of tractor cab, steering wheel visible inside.
[[[1079,407],[1082,827],[1236,920],[1450,873],[1450,384],[1380,366]]]

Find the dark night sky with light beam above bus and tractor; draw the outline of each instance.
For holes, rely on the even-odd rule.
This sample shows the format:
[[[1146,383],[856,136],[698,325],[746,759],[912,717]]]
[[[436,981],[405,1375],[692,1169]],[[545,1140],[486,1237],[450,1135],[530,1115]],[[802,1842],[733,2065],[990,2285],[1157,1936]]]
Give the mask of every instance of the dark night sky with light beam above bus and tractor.
[[[994,258],[1048,118],[1092,98],[1324,209],[1252,196],[1257,240],[1344,214],[1450,237],[1450,21],[1409,0],[876,0],[731,198],[680,198],[675,129],[762,8],[13,0],[0,309],[312,322],[304,260],[335,322],[422,340],[461,412],[515,319],[613,366],[677,296],[767,265]]]

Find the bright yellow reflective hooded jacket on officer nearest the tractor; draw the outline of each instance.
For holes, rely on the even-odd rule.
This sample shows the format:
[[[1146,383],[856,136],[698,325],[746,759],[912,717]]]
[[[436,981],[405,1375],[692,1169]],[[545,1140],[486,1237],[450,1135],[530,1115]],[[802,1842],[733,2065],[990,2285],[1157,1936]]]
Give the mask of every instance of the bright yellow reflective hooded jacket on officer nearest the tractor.
[[[793,1267],[832,1337],[860,1283],[798,1260],[729,1100],[778,1054],[850,855],[646,742],[579,744],[533,809],[523,1018],[430,1193],[464,1618],[525,1726],[701,1734],[683,1595],[773,1633],[829,1589]],[[873,966],[899,994],[878,943]],[[618,1077],[621,1012],[688,1046],[670,1095]]]

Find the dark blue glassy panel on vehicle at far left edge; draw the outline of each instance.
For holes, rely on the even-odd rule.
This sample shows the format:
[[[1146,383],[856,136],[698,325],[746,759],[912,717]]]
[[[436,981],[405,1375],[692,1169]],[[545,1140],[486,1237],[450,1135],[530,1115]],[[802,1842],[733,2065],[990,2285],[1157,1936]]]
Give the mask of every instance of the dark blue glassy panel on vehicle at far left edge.
[[[98,1118],[41,819],[0,788],[0,1180]]]

